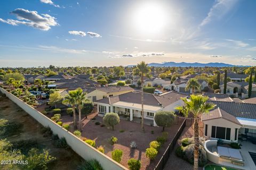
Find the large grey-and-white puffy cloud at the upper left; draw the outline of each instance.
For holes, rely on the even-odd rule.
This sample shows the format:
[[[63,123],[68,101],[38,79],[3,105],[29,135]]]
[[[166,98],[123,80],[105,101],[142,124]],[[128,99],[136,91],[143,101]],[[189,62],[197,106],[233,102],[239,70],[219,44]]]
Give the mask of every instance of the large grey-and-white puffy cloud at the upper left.
[[[15,14],[18,20],[3,20],[0,18],[0,21],[10,25],[23,24],[29,27],[34,27],[45,31],[51,29],[51,26],[58,25],[57,21],[55,20],[56,18],[49,14],[39,15],[37,11],[29,11],[22,8],[17,8],[14,11],[12,11],[11,14]]]

